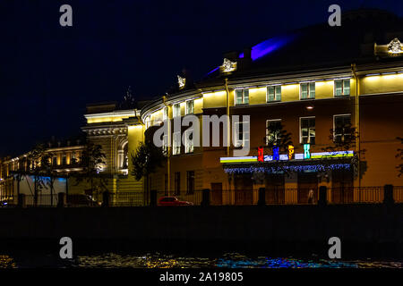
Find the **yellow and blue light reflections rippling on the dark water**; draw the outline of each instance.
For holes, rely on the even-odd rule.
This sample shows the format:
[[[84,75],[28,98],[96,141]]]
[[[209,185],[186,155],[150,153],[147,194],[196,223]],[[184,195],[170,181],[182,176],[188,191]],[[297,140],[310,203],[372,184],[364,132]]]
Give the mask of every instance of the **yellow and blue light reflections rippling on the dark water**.
[[[53,260],[52,260],[53,259]],[[107,253],[103,255],[78,256],[70,261],[61,262],[53,257],[46,263],[41,259],[0,255],[0,268],[31,267],[84,267],[84,268],[403,268],[403,262],[390,261],[338,261],[319,258],[298,259],[293,257],[246,257],[238,253],[224,254],[220,257],[182,257],[166,254],[122,255]]]

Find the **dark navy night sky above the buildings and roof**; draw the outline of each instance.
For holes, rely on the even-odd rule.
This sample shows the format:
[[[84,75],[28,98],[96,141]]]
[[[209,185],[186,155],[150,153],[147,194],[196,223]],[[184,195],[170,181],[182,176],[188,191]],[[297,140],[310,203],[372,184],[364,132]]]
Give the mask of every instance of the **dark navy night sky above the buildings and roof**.
[[[156,97],[184,67],[195,80],[242,50],[342,11],[382,8],[403,16],[403,1],[0,1],[0,156],[67,138],[85,105]],[[59,7],[73,7],[73,27]]]

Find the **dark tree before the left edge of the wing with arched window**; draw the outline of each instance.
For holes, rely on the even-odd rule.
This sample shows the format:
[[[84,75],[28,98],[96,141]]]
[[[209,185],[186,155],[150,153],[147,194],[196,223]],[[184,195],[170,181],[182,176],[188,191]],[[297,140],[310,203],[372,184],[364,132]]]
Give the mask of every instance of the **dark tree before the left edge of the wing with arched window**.
[[[72,176],[76,179],[76,185],[80,184],[81,181],[86,181],[90,183],[91,193],[95,190],[99,194],[102,189],[107,190],[107,180],[105,177],[99,175],[99,172],[106,165],[106,157],[100,145],[87,141],[80,156],[80,166],[82,169],[81,171],[72,173]]]

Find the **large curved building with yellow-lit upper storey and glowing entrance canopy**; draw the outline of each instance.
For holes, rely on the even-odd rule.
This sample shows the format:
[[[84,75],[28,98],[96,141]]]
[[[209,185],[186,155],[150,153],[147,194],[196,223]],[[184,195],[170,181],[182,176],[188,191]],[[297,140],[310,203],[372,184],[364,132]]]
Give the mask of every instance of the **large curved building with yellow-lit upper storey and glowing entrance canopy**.
[[[109,176],[109,190],[144,193],[143,181],[135,181],[130,172],[130,155],[151,126],[189,114],[199,119],[200,138],[206,127],[203,115],[249,119],[242,119],[236,129],[220,124],[219,147],[182,140],[188,128],[169,129],[163,139],[171,143],[167,164],[151,175],[149,189],[184,199],[196,190],[211,189],[213,200],[243,204],[256,201],[253,190],[261,187],[294,189],[280,195],[281,200],[304,203],[306,190],[316,192],[322,185],[329,187],[330,201],[346,202],[361,200],[356,189],[348,198],[340,198],[345,195],[335,189],[402,186],[396,170],[397,138],[403,137],[402,20],[390,13],[364,11],[347,14],[342,22],[338,28],[324,24],[300,29],[243,53],[227,53],[202,80],[177,76],[176,90],[136,110],[89,105],[82,130],[107,154],[103,172]],[[292,144],[287,150],[264,147],[273,136],[270,126],[279,122]],[[324,148],[334,145],[330,130],[349,123],[359,135],[354,144],[325,153]],[[223,134],[231,139],[228,147]],[[249,154],[234,156],[246,143]],[[354,169],[357,156],[362,163]],[[224,202],[225,191],[242,196]]]

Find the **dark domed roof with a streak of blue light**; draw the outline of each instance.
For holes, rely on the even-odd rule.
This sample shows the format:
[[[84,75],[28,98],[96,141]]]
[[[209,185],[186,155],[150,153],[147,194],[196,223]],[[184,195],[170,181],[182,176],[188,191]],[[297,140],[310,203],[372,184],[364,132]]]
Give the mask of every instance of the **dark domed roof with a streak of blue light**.
[[[393,61],[396,58],[380,58],[374,55],[373,50],[374,43],[386,45],[393,38],[403,40],[402,18],[376,9],[351,11],[343,14],[340,27],[330,27],[325,22],[268,38],[252,47],[250,63],[243,64],[230,75],[222,75],[216,68],[196,86],[222,82],[223,77],[234,79],[263,73],[270,75],[350,66],[351,63]],[[244,53],[233,55],[239,57],[232,60],[245,61]]]

